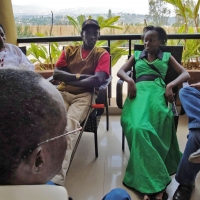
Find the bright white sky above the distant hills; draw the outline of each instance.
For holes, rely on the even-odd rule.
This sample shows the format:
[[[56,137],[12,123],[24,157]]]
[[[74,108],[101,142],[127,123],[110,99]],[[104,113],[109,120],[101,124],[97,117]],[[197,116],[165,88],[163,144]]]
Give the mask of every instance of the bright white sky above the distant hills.
[[[68,9],[76,7],[123,8],[135,14],[148,14],[148,0],[11,0],[15,5],[39,5],[51,9]],[[172,8],[172,7],[171,7]]]

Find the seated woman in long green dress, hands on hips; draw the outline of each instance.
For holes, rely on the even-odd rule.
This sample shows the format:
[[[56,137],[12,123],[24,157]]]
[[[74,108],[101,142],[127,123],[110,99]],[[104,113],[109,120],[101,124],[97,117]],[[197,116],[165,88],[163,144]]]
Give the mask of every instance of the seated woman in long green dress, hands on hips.
[[[145,27],[142,39],[144,50],[135,51],[117,73],[128,84],[121,125],[130,158],[123,183],[143,193],[144,200],[164,200],[170,175],[176,172],[181,158],[168,102],[174,101],[172,88],[189,74],[170,53],[160,50],[167,42],[163,28]],[[134,62],[136,82],[126,74]],[[165,85],[168,65],[179,75]]]

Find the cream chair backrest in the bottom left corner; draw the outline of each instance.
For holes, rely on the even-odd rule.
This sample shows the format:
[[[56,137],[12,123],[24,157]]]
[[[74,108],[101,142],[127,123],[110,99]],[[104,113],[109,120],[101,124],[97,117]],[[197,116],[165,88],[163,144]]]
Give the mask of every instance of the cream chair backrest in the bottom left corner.
[[[0,186],[2,200],[68,200],[67,190],[53,185]]]

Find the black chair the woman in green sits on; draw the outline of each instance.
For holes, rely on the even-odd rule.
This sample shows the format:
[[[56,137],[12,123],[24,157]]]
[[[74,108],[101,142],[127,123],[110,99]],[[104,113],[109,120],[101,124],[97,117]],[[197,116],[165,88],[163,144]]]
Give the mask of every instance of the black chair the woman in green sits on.
[[[161,47],[163,52],[170,52],[172,54],[172,56],[177,60],[178,63],[181,64],[181,58],[182,58],[182,52],[183,52],[183,46],[162,46]],[[139,51],[143,51],[144,50],[144,45],[134,45],[134,50],[139,50]],[[134,66],[132,68],[132,71],[128,71],[127,74],[130,77],[134,78]],[[173,81],[174,79],[176,79],[176,77],[178,76],[178,74],[176,73],[176,71],[169,66],[168,70],[167,70],[167,74],[165,77],[165,83],[169,83],[171,81]],[[123,108],[123,80],[119,79],[117,82],[117,87],[116,87],[116,103],[117,106],[122,109]],[[174,99],[176,102],[177,96],[178,96],[178,86],[173,88],[173,93],[174,93]],[[176,107],[174,107],[175,105],[173,105],[173,108],[176,111]],[[181,113],[183,114],[183,113]],[[178,126],[178,119],[179,119],[179,113],[174,114],[174,124],[175,124],[175,128],[177,130],[177,126]],[[125,137],[124,137],[124,132],[122,130],[122,150],[124,150],[125,148],[125,141],[124,141]]]

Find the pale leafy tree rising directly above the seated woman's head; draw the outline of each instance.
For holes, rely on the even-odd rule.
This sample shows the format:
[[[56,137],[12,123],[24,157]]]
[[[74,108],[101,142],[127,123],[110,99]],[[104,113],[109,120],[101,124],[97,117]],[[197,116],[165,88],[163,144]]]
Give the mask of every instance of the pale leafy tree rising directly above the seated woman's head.
[[[171,13],[167,8],[167,3],[162,0],[149,0],[149,15],[151,23],[155,26],[168,25],[168,18]]]

